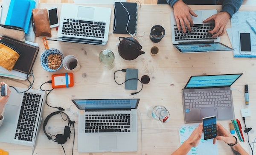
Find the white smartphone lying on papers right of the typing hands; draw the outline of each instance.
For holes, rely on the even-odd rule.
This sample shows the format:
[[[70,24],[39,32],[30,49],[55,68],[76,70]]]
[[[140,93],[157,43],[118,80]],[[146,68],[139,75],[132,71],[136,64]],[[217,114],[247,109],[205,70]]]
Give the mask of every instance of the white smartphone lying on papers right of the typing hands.
[[[240,54],[252,54],[250,31],[239,31]]]

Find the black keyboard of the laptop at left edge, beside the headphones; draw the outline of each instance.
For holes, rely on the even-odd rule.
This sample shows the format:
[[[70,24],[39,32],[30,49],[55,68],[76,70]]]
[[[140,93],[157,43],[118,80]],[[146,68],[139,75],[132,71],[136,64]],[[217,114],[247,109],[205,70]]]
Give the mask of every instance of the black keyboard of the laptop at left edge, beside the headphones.
[[[32,141],[41,95],[24,93],[15,139]]]

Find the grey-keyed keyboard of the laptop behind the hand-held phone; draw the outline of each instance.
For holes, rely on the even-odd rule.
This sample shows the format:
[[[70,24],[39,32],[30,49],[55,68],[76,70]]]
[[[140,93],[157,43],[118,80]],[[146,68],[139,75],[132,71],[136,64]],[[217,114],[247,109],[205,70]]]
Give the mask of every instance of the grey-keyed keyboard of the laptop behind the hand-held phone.
[[[185,92],[185,108],[231,106],[230,90]]]

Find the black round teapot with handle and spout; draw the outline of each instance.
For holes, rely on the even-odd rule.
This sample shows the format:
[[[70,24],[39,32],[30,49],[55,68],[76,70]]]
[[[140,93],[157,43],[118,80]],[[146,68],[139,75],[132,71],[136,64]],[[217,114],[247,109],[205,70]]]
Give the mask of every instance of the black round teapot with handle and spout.
[[[122,39],[122,40],[120,40]],[[133,37],[119,37],[118,53],[125,60],[136,59],[139,55],[145,54],[144,51],[141,51],[142,46]]]

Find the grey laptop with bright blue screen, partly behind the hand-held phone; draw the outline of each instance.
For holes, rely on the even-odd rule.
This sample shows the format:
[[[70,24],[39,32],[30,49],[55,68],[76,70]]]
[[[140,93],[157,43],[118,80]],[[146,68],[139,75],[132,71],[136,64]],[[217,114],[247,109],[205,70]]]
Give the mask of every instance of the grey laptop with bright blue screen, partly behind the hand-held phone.
[[[242,75],[191,76],[182,89],[185,123],[201,122],[215,115],[217,120],[234,119],[231,85]]]

